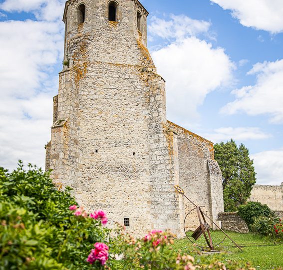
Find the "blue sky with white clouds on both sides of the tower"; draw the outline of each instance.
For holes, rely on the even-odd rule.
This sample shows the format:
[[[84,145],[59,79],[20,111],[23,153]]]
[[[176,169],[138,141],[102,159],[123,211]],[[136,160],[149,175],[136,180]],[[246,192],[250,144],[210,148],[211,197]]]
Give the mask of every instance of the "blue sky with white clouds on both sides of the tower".
[[[168,119],[244,143],[258,182],[283,182],[283,1],[142,0]],[[0,0],[0,164],[44,166],[64,0]]]

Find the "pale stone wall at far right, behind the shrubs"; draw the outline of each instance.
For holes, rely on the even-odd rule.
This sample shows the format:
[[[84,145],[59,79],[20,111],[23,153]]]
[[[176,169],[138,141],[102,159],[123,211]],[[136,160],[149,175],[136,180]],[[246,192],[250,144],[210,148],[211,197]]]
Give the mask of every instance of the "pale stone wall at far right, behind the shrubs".
[[[267,204],[272,210],[283,211],[283,185],[256,184],[250,200]]]

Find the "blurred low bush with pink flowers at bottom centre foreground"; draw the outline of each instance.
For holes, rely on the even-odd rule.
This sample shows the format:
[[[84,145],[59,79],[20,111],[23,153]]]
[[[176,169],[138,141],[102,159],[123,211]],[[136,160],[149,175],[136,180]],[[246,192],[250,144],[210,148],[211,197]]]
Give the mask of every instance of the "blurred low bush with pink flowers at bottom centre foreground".
[[[174,237],[169,231],[152,230],[142,239],[135,239],[125,235],[125,242],[121,248],[124,252],[124,269],[219,269],[236,270],[251,269],[247,263],[235,263],[232,261],[212,261],[209,265],[199,265],[195,259],[198,251],[193,254],[179,254],[173,250]]]

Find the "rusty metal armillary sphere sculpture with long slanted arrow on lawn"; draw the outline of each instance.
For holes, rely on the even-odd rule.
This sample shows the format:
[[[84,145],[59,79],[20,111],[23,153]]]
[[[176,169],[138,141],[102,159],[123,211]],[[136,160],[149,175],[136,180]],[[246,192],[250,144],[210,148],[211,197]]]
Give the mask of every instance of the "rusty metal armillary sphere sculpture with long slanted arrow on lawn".
[[[228,237],[241,251],[243,251],[242,248],[223,229],[221,229],[221,227],[219,227],[205,212],[202,211],[201,206],[197,206],[193,201],[191,201],[185,195],[185,191],[179,185],[175,185],[175,188],[176,188],[176,190],[178,191],[179,194],[181,194],[183,197],[185,197],[187,200],[189,200],[195,206],[193,209],[191,209],[187,213],[186,217],[184,218],[184,231],[185,231],[185,234],[186,234],[187,238],[192,243],[194,243],[194,242],[189,238],[189,236],[188,236],[188,234],[186,232],[185,222],[186,222],[186,219],[188,218],[189,214],[192,211],[197,210],[197,215],[198,215],[198,219],[199,219],[199,222],[200,222],[200,226],[192,234],[192,237],[195,240],[199,239],[202,235],[204,235],[209,249],[210,250],[215,250],[215,246],[220,245],[226,239],[226,237]],[[211,238],[211,234],[210,234],[210,230],[209,230],[210,229],[210,225],[207,223],[206,218],[209,219],[218,229],[220,229],[225,234],[224,239],[220,243],[213,244],[213,241],[212,241],[212,238]],[[196,244],[196,243],[194,243],[194,244]],[[201,247],[202,249],[206,248],[205,246],[202,246],[202,245],[198,245],[198,244],[196,244],[196,245]]]

